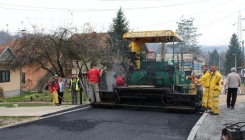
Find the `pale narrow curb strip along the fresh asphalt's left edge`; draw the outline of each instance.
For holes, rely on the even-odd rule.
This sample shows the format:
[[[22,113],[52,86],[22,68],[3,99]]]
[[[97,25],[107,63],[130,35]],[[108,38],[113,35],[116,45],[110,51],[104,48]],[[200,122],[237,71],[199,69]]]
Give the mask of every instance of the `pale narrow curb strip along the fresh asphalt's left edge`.
[[[42,120],[42,119],[46,119],[46,118],[51,118],[51,117],[54,117],[54,116],[58,116],[58,115],[62,115],[62,114],[70,113],[70,112],[75,112],[75,111],[87,109],[87,108],[90,108],[91,106],[82,105],[81,107],[82,107],[82,108],[78,108],[78,109],[74,109],[74,110],[68,110],[68,111],[61,112],[61,113],[57,113],[57,112],[55,112],[54,114],[51,113],[51,114],[48,115],[48,116],[43,116],[43,117],[42,117],[42,116],[38,116],[37,119],[30,120],[30,121],[26,121],[26,122],[18,122],[18,123],[16,123],[16,124],[10,124],[10,125],[6,125],[6,126],[1,126],[0,129],[4,129],[4,128],[16,126],[16,125],[21,125],[21,124],[25,124],[25,123],[29,123],[29,122],[34,122],[34,121],[38,121],[38,120]],[[75,108],[75,107],[74,107],[74,108]],[[60,111],[58,111],[58,112],[60,112]]]

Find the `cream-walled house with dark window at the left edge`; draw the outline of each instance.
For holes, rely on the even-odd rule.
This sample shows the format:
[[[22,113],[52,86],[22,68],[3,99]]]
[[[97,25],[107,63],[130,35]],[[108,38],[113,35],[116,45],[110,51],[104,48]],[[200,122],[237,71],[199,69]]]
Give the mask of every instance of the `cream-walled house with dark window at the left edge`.
[[[6,98],[21,94],[21,68],[16,70],[8,70],[5,68],[8,60],[13,57],[14,54],[8,44],[0,46],[0,85],[4,89],[4,95]]]

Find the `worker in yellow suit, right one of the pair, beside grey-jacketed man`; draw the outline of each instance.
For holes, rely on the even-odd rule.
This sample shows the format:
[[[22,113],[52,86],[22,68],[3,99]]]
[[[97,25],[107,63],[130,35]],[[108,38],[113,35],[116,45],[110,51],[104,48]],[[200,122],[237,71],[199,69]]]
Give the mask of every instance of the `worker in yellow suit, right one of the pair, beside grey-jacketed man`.
[[[211,79],[209,83],[209,88],[212,96],[212,112],[210,112],[211,115],[219,115],[220,109],[219,109],[219,95],[222,89],[221,86],[221,74],[219,71],[217,71],[217,67],[215,65],[212,65],[211,69]]]

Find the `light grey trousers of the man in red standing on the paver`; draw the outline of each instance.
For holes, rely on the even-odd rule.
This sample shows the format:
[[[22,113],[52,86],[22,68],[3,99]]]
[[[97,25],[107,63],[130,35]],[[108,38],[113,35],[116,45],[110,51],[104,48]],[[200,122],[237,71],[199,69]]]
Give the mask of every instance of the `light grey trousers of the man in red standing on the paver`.
[[[90,94],[91,94],[91,102],[100,102],[98,83],[89,82],[89,88],[90,88]]]

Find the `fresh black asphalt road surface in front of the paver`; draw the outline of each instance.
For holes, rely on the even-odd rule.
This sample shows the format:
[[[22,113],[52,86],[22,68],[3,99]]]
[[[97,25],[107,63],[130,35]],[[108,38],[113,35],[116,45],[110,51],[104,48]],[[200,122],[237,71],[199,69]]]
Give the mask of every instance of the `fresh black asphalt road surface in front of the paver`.
[[[186,140],[202,114],[77,106],[0,129],[2,140]],[[66,112],[65,110],[59,113]]]

